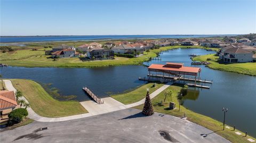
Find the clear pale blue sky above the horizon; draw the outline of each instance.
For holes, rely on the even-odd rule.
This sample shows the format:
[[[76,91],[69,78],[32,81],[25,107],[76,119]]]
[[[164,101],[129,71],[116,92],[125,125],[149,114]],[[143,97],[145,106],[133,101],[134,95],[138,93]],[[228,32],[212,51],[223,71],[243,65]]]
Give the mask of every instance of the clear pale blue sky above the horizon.
[[[256,32],[256,1],[2,1],[1,35]]]

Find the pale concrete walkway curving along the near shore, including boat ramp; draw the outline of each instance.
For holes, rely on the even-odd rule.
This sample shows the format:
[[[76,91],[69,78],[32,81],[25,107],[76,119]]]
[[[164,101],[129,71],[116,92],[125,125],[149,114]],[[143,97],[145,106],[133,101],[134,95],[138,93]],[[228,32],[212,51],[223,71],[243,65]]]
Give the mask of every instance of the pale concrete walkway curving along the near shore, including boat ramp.
[[[16,92],[17,90],[13,87],[12,82],[10,80],[4,80],[5,87],[7,90],[14,91]],[[154,98],[157,96],[159,93],[161,93],[163,90],[165,90],[167,87],[170,86],[170,83],[166,83],[166,85],[162,86],[161,88],[157,89],[154,91],[152,94],[150,94],[151,98]],[[25,97],[21,97],[22,99],[26,100]],[[30,119],[33,119],[35,121],[39,122],[60,122],[60,121],[69,121],[69,120],[75,120],[75,119],[82,119],[84,117],[89,117],[93,115],[99,115],[99,114],[105,114],[109,112],[114,112],[118,110],[123,110],[125,108],[130,108],[134,106],[141,105],[145,102],[145,98],[140,100],[139,102],[124,105],[117,100],[107,97],[107,98],[102,98],[104,101],[104,104],[97,104],[93,102],[92,100],[86,101],[86,102],[81,102],[81,105],[89,112],[85,114],[79,114],[79,115],[72,115],[72,116],[65,116],[65,117],[43,117],[38,114],[36,114],[32,108],[28,107],[28,117]],[[27,101],[28,102],[28,101]]]

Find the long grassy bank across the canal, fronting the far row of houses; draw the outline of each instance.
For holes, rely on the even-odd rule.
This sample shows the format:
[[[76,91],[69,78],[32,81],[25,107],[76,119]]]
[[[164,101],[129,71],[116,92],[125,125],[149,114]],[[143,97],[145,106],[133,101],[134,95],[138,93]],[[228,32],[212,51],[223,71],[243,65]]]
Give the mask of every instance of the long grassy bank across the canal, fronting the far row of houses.
[[[86,61],[83,62],[79,58],[59,58],[57,61],[53,61],[49,55],[44,55],[44,50],[38,49],[38,51],[31,51],[31,49],[18,50],[12,53],[1,53],[2,63],[12,66],[24,66],[24,67],[59,67],[59,68],[95,68],[101,66],[118,66],[118,65],[139,65],[145,61],[149,61],[150,57],[157,56],[157,53],[175,48],[202,48],[201,46],[167,46],[159,49],[150,50],[150,52],[144,52],[144,55],[136,58],[115,57],[114,60],[102,60],[102,61]],[[209,48],[206,48],[209,49]],[[212,48],[215,50],[214,48]]]

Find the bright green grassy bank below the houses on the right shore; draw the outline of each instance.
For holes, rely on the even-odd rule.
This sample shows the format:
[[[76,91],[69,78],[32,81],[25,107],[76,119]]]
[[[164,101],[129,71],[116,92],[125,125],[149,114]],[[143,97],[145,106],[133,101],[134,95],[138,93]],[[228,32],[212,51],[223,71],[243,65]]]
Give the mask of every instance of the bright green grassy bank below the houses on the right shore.
[[[209,68],[256,76],[256,63],[220,64],[218,62],[219,56],[215,54],[197,56],[193,58],[193,61],[206,61],[207,58],[211,58],[211,61],[207,61],[211,63],[208,65]]]

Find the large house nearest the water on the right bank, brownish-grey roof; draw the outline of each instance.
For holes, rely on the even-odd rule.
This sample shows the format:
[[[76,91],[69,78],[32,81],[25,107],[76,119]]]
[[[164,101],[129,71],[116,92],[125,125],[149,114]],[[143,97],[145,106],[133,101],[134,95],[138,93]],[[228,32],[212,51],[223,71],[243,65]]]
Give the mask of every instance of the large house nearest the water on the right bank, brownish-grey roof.
[[[222,60],[225,63],[253,62],[253,53],[243,49],[242,47],[233,47],[224,52]]]

